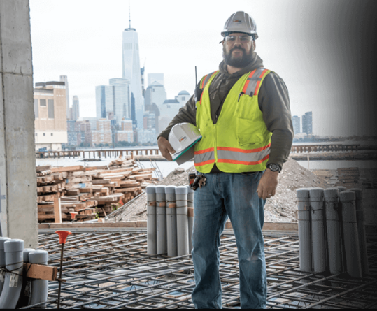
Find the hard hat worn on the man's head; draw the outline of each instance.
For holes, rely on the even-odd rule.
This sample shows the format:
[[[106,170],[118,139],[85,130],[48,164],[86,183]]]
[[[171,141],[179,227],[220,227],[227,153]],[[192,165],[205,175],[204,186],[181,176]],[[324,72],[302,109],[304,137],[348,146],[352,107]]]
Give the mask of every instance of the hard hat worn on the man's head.
[[[258,38],[255,20],[248,13],[242,11],[236,12],[228,18],[221,35],[225,37],[232,32],[243,32],[252,35],[254,39]]]

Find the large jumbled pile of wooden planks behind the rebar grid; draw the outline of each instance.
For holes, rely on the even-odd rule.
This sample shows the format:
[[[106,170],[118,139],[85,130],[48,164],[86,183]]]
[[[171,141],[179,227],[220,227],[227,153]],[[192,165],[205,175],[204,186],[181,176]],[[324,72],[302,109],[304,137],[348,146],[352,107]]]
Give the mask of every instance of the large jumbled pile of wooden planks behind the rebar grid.
[[[56,221],[54,201],[62,221],[71,221],[71,212],[78,221],[106,217],[157,180],[155,168],[138,168],[133,159],[116,161],[111,167],[38,166],[38,221]]]

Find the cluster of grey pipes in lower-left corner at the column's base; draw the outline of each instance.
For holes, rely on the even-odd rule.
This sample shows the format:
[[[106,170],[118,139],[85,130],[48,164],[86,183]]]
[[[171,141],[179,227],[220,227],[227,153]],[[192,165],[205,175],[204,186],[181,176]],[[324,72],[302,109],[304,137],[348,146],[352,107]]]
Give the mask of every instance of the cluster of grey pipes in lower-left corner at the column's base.
[[[29,279],[24,273],[24,263],[46,265],[47,261],[48,252],[24,249],[23,240],[0,237],[0,309],[47,301],[48,281]]]

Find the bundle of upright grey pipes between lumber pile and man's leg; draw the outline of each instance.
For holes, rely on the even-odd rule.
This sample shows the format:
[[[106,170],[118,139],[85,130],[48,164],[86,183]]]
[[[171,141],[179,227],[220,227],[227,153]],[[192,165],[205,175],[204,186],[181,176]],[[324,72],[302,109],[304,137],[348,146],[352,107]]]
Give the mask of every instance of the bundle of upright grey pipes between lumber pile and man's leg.
[[[190,254],[194,191],[188,186],[148,186],[146,192],[147,254]]]

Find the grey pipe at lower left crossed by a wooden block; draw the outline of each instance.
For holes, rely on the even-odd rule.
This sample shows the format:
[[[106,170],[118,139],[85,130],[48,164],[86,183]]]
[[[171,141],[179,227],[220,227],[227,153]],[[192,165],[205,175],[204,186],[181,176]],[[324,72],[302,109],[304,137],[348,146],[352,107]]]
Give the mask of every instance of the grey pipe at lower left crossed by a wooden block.
[[[48,252],[45,250],[36,250],[29,253],[30,263],[36,263],[39,265],[47,265]],[[48,298],[48,281],[47,280],[32,280],[31,281],[31,298],[30,305],[36,303],[42,303],[47,301]],[[38,308],[45,308],[45,305],[40,305]]]

